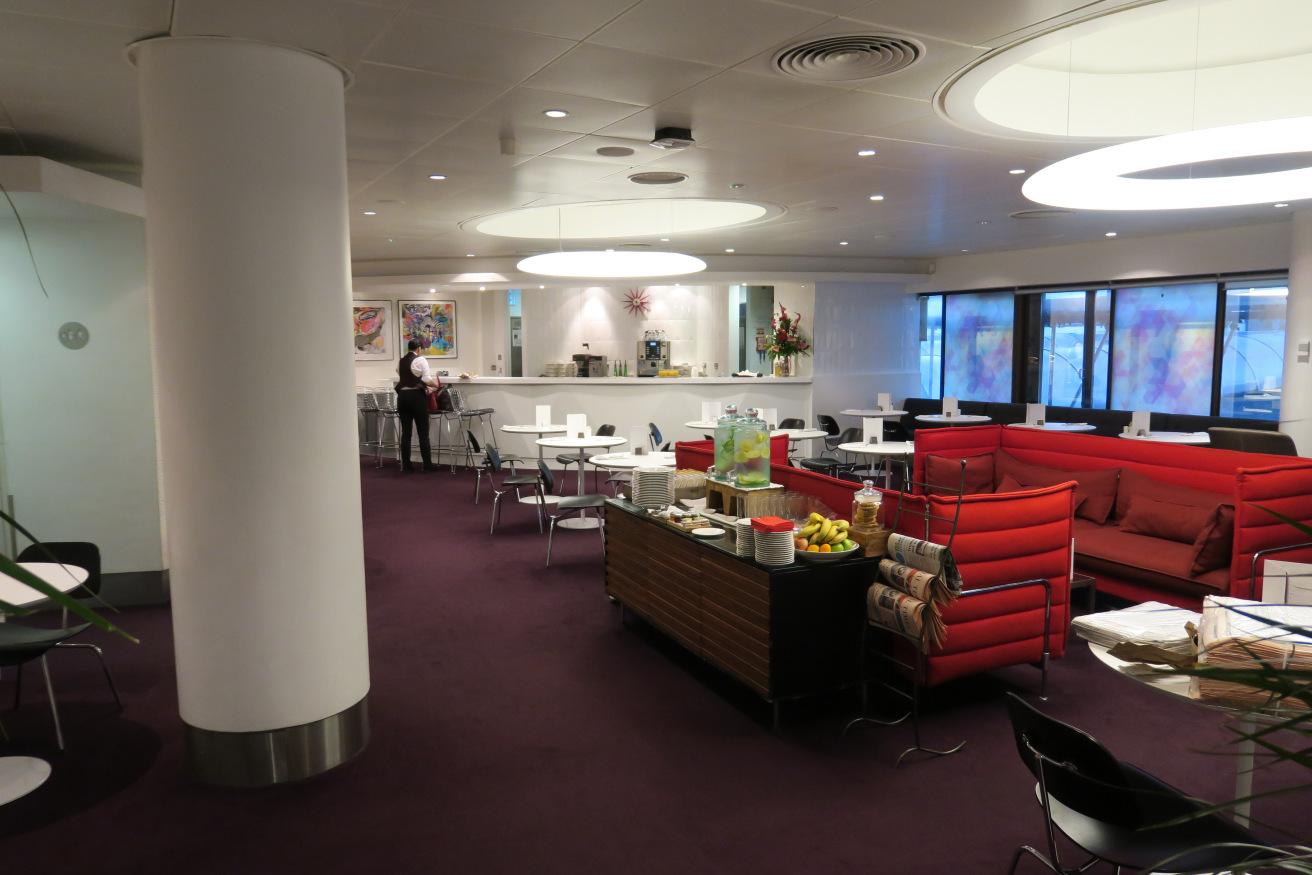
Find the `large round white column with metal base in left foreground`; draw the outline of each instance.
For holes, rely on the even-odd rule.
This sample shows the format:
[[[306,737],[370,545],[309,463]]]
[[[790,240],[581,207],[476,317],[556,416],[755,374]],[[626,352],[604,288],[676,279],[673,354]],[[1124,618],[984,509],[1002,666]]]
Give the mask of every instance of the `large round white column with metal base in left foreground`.
[[[178,704],[215,783],[367,740],[344,72],[136,43]]]

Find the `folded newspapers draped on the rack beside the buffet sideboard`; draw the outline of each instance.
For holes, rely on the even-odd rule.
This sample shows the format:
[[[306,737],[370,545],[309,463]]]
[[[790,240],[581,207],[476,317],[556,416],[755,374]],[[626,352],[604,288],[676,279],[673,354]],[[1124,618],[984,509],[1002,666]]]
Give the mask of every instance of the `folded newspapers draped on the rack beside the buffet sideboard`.
[[[883,584],[866,593],[866,615],[871,623],[913,639],[921,651],[938,647],[947,638],[939,605],[962,593],[962,576],[953,551],[942,544],[888,537],[888,555],[879,563]]]

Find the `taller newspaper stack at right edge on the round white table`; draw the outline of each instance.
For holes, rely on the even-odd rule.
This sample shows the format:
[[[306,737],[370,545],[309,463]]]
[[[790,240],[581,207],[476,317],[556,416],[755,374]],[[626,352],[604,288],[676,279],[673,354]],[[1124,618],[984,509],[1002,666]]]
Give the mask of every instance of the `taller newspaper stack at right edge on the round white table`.
[[[1294,627],[1292,631],[1290,627]],[[1208,596],[1198,628],[1198,661],[1214,668],[1312,670],[1312,606],[1263,605]],[[1193,678],[1199,699],[1248,707],[1305,708],[1295,698],[1214,678]]]

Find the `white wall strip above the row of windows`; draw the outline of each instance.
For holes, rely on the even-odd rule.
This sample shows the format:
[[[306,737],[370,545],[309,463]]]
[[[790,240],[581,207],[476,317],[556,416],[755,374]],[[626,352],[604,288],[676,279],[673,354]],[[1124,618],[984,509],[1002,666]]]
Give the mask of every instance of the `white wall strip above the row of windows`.
[[[1126,281],[1284,270],[1288,266],[1290,223],[1286,220],[1220,231],[1115,237],[1065,247],[942,258],[930,279],[908,286],[908,291]]]

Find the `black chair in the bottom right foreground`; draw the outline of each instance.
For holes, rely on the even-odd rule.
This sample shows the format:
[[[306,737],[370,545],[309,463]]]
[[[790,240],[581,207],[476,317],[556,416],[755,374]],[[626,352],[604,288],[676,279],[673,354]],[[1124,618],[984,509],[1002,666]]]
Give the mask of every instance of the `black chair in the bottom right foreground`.
[[[1120,762],[1086,732],[1055,720],[1029,702],[1006,694],[1015,749],[1038,779],[1048,853],[1025,845],[1012,859],[1014,875],[1025,854],[1055,872],[1082,872],[1098,861],[1135,871],[1219,872],[1245,861],[1277,855],[1266,842],[1200,802]],[[1172,823],[1177,819],[1179,823]],[[1063,866],[1060,830],[1090,855],[1082,866]]]

